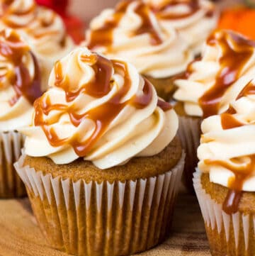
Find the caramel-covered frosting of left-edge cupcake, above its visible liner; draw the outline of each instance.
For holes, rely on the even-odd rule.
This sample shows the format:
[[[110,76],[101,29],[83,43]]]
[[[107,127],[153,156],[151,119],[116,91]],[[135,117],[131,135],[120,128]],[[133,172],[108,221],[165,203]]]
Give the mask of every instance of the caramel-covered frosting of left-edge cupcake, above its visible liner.
[[[40,69],[30,47],[13,30],[0,32],[0,130],[32,121],[33,101],[42,95]]]

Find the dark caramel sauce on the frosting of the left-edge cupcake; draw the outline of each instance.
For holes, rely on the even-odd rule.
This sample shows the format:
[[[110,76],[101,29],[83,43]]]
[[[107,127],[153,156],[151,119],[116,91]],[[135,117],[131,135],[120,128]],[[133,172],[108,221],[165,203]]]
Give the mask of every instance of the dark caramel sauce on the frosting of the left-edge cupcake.
[[[42,95],[40,69],[35,56],[30,52],[28,46],[21,41],[18,34],[12,31],[7,35],[4,30],[0,32],[0,54],[6,58],[6,62],[10,62],[14,67],[11,85],[16,92],[16,96],[9,103],[12,106],[21,96],[24,96],[33,104],[35,99]],[[23,56],[26,54],[30,54],[33,58],[35,67],[33,79],[31,79],[29,70],[23,63]]]

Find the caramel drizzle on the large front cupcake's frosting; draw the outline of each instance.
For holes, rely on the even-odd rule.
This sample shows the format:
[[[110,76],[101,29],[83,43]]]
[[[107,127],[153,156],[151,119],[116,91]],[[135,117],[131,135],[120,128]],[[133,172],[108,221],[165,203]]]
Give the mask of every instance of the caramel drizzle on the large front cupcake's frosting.
[[[79,94],[86,93],[89,96],[96,98],[106,96],[113,86],[112,72],[121,74],[124,79],[123,87],[116,92],[115,95],[106,103],[101,104],[85,113],[77,114],[77,110],[73,104],[70,106],[64,104],[51,104],[50,98],[46,99],[41,97],[35,101],[35,126],[42,126],[42,129],[47,136],[47,140],[53,147],[59,147],[65,143],[69,143],[74,148],[74,151],[79,157],[84,157],[92,150],[95,143],[106,132],[110,123],[118,116],[118,114],[128,104],[135,106],[135,108],[145,108],[152,101],[152,84],[145,79],[145,85],[143,88],[143,94],[141,96],[134,96],[125,102],[122,102],[123,97],[128,93],[131,87],[131,80],[128,74],[128,66],[125,62],[118,60],[107,60],[99,55],[84,55],[81,60],[86,63],[91,63],[91,67],[95,72],[95,79],[87,84],[84,84],[77,91],[71,91],[69,89],[69,78],[63,75],[62,65],[57,62],[55,65],[55,86],[60,87],[66,93],[67,102],[74,101]],[[166,109],[169,104],[162,104],[159,101],[159,106]],[[169,105],[169,109],[171,106]],[[50,111],[60,111],[60,114],[53,120],[44,120],[44,115],[49,115]],[[74,135],[72,138],[58,138],[55,130],[50,126],[53,123],[57,123],[62,116],[62,113],[68,113],[70,121],[74,126],[79,126],[84,119],[90,119],[94,121],[96,126],[94,133],[90,138],[81,141],[79,135]]]

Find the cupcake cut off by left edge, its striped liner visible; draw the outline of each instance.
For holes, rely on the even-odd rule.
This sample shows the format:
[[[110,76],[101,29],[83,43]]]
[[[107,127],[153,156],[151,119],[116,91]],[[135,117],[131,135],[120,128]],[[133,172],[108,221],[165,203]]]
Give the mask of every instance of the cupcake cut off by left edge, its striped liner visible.
[[[32,120],[33,102],[42,95],[40,69],[30,47],[13,30],[0,32],[0,198],[24,196],[13,162],[21,156],[18,128]]]

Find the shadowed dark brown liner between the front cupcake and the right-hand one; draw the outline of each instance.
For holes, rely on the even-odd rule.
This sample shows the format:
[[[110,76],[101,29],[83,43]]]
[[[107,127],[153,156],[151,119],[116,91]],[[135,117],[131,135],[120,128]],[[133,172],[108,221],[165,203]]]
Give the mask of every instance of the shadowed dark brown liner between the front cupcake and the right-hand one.
[[[193,191],[193,172],[198,165],[197,149],[200,144],[200,118],[179,116],[178,135],[186,152],[183,170],[183,184],[188,191]]]

